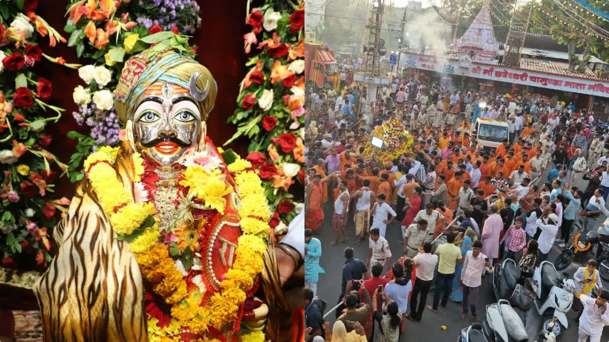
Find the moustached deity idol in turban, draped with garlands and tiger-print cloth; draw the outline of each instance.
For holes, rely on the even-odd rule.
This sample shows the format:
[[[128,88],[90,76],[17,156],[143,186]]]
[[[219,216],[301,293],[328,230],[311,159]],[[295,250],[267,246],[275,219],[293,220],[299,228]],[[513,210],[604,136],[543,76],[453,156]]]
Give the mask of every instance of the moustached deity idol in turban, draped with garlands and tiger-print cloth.
[[[44,341],[303,340],[284,285],[301,270],[303,217],[270,242],[258,176],[206,138],[216,93],[172,47],[125,63],[126,137],[87,158],[34,287]]]

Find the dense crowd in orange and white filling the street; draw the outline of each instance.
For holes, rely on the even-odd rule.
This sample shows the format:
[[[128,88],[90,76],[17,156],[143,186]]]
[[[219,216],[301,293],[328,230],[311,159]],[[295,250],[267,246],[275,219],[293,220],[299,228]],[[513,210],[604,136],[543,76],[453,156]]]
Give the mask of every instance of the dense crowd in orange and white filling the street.
[[[554,246],[572,242],[574,223],[582,222],[585,235],[609,214],[609,132],[597,130],[585,109],[404,79],[379,89],[376,101],[367,102],[367,92],[357,83],[340,94],[309,89],[305,240],[315,252],[309,250],[305,267],[311,339],[327,338],[329,331],[320,317],[330,308],[316,296],[322,232],[332,248],[353,245],[343,250],[334,329],[362,340],[398,341],[406,319],[421,321],[449,298],[462,302],[460,319],[471,314],[479,321],[481,279],[496,262],[514,259],[531,277]],[[506,122],[509,136],[496,148],[479,145],[472,130],[479,117]],[[412,135],[412,150],[389,161],[365,155],[371,131],[390,118]],[[580,180],[587,185],[577,187]],[[330,212],[331,225],[323,225]],[[350,222],[354,241],[347,234]],[[393,222],[401,240],[385,239]],[[354,258],[353,248],[362,242],[368,244],[366,260]],[[392,256],[389,245],[395,244],[403,246],[403,256]],[[594,281],[601,286],[599,277]],[[576,299],[588,319],[580,324],[582,342],[582,333],[600,338],[609,324],[604,303],[588,310],[600,303],[590,292],[585,285]]]

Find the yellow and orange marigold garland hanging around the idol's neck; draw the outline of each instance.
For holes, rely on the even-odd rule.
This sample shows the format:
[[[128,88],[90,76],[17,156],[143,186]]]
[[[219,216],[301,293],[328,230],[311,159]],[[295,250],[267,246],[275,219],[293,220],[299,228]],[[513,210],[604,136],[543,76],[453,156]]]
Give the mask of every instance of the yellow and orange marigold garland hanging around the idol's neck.
[[[85,170],[114,231],[119,237],[126,237],[138,231],[146,219],[155,214],[155,208],[153,203],[134,203],[122,186],[113,167],[118,152],[119,148],[99,148],[86,159]],[[144,173],[141,155],[134,153],[132,162],[134,180],[139,181]],[[243,235],[238,239],[233,268],[220,283],[221,292],[214,293],[205,305],[199,305],[198,290],[188,293],[186,282],[175,268],[165,246],[157,245],[161,237],[158,219],[155,218],[152,227],[144,229],[130,242],[130,250],[136,254],[142,274],[152,283],[153,291],[163,296],[167,303],[173,304],[173,318],[169,327],[160,328],[157,326],[158,320],[149,317],[150,341],[177,341],[179,338],[175,334],[180,327],[188,326],[193,332],[204,336],[199,341],[216,342],[218,340],[205,337],[208,327],[222,327],[238,318],[239,307],[245,302],[247,291],[253,287],[255,278],[264,268],[264,238],[270,231],[267,221],[271,216],[263,195],[262,181],[254,172],[246,171],[248,167],[251,164],[241,158],[228,166],[228,170],[235,176],[244,203],[239,209]],[[204,200],[208,208],[224,214],[224,196],[233,189],[225,186],[220,173],[220,170],[209,173],[200,166],[189,166],[180,184],[190,187],[189,193]],[[266,340],[262,332],[245,333],[240,337],[244,342]]]

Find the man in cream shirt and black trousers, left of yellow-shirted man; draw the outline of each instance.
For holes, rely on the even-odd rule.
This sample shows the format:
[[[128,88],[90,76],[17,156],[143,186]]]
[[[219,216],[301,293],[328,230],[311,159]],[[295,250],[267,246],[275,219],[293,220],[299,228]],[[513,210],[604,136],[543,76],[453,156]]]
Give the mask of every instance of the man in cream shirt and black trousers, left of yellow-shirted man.
[[[431,246],[431,242],[423,243],[423,253],[414,257],[417,266],[417,281],[415,281],[412,295],[410,295],[410,318],[415,321],[421,321],[429,288],[434,283],[434,270],[438,264],[438,256],[431,254]],[[418,298],[418,295],[421,297]]]

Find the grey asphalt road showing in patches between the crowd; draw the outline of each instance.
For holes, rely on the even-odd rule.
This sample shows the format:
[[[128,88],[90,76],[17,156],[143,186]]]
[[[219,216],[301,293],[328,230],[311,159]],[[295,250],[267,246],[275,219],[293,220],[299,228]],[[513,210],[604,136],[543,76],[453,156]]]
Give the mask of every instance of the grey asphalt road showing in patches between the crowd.
[[[547,171],[543,174],[543,180],[547,178]],[[580,189],[584,189],[587,181],[580,180],[576,186],[579,186]],[[331,197],[331,196],[330,196]],[[354,242],[354,224],[353,220],[350,219],[350,222],[347,225],[348,237],[350,239],[349,243],[341,243],[338,246],[330,246],[334,239],[334,234],[332,231],[331,225],[331,217],[333,210],[333,201],[328,200],[325,207],[325,221],[322,225],[322,235],[318,236],[318,238],[322,242],[322,261],[321,265],[325,270],[324,274],[320,274],[319,283],[317,284],[317,296],[320,298],[326,299],[328,301],[328,307],[331,308],[336,304],[338,297],[340,295],[340,281],[342,274],[342,265],[344,263],[344,258],[342,256],[342,251],[347,247],[351,246],[354,248],[356,253],[356,258],[365,260],[368,253],[368,245],[367,243],[362,243],[359,246],[356,246]],[[605,216],[601,215],[599,220],[597,220],[597,224],[600,225],[605,220]],[[392,223],[387,227],[387,240],[389,241],[390,250],[393,254],[393,260],[397,260],[398,257],[402,256],[402,243],[401,243],[401,232],[400,225],[398,223]],[[551,256],[548,260],[553,261],[560,253],[561,248],[558,248],[558,243],[555,243],[554,250],[551,252]],[[575,273],[578,267],[581,265],[579,263],[574,263],[569,268],[567,268],[564,272],[569,274],[569,277]],[[560,274],[560,273],[559,273]],[[485,305],[492,304],[494,302],[490,289],[487,285],[488,279],[485,277],[482,283],[481,295],[478,302],[478,311],[481,319],[484,319],[485,313]],[[432,293],[428,295],[428,304],[431,304],[432,301]],[[454,341],[459,335],[460,329],[465,326],[468,326],[470,321],[461,321],[459,319],[459,313],[461,312],[461,304],[449,301],[448,305],[445,309],[440,308],[438,313],[433,313],[429,310],[423,314],[423,319],[420,322],[414,323],[412,321],[407,321],[406,329],[407,333],[403,335],[401,338],[401,342],[404,341],[417,341],[417,342],[437,342],[437,341]],[[577,312],[571,310],[567,313],[568,321],[569,321],[569,329],[565,331],[564,335],[561,335],[561,341],[575,342],[577,341],[577,325],[576,318]],[[328,316],[331,324],[334,322],[334,314]],[[469,318],[468,318],[469,319]],[[530,341],[537,341],[537,333],[541,329],[541,324],[543,323],[543,318],[537,314],[537,310],[533,307],[527,313],[526,326],[527,332],[529,332]],[[442,330],[441,326],[446,326],[446,330]],[[605,333],[603,335],[602,340],[607,341],[609,338],[609,329],[605,329]]]

